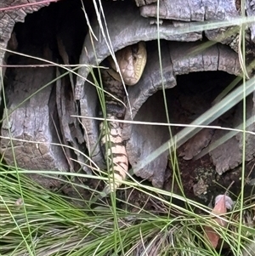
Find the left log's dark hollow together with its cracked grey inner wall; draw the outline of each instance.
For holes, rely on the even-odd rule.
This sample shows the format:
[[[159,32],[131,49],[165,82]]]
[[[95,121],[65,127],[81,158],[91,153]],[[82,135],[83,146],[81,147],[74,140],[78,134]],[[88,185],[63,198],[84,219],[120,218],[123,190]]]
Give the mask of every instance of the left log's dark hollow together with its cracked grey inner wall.
[[[18,65],[7,69],[4,81],[7,111],[1,134],[14,140],[11,145],[9,139],[2,139],[1,153],[9,165],[14,164],[13,146],[20,168],[59,171],[75,168],[70,160],[76,158],[74,152],[54,145],[79,143],[84,150],[82,129],[70,117],[77,114],[71,77],[67,74],[55,81],[66,72],[55,63],[77,65],[87,31],[79,0],[52,3],[27,14],[24,23],[14,26],[8,48],[31,57],[8,54],[8,65]],[[50,182],[39,176],[34,179],[45,187],[59,184],[56,179]]]

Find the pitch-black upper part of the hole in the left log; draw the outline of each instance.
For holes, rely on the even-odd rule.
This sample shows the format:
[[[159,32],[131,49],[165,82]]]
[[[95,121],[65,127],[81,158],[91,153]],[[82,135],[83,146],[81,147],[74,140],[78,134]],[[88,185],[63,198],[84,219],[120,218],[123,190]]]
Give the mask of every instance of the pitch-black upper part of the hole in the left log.
[[[89,9],[86,2],[88,1],[84,3],[85,9]],[[19,22],[14,26],[14,32],[19,43],[18,51],[29,54],[28,46],[37,48],[37,51],[47,46],[53,51],[55,58],[59,58],[59,37],[65,45],[71,64],[77,64],[87,33],[81,1],[59,1],[33,14],[27,14],[24,23]]]

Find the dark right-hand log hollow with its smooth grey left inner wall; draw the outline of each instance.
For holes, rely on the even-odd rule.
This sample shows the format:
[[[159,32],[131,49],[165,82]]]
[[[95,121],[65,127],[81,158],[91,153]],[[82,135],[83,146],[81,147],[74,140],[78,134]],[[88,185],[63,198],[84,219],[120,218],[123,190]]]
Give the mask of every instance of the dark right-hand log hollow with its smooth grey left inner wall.
[[[194,121],[212,106],[212,101],[234,79],[235,76],[223,71],[194,72],[178,76],[177,85],[166,90],[170,122],[189,124]],[[224,118],[229,117],[230,113],[231,111]],[[144,102],[134,117],[134,121],[167,123],[166,108],[161,90]],[[181,129],[182,127],[178,126],[172,127],[172,135],[177,134]],[[166,126],[133,124],[128,126],[127,130],[131,134],[127,140],[128,159],[135,174],[144,179],[150,179],[156,186],[162,186],[169,152],[166,151],[154,161],[149,162],[144,168],[136,170],[136,165],[140,161],[148,159],[147,156],[150,156],[153,151],[156,151],[171,138],[168,128]],[[214,130],[211,129],[203,129],[199,136],[190,139],[184,146],[180,147],[177,155],[183,155],[187,157],[187,160],[190,160],[208,145],[213,132]]]

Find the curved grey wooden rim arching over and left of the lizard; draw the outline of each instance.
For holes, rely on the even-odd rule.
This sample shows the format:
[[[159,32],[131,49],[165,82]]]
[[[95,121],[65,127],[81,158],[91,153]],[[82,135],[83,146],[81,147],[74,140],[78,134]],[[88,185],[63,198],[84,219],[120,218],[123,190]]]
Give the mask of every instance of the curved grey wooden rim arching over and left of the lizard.
[[[106,40],[102,39],[104,31],[100,31],[97,18],[91,21],[91,26],[94,35],[99,38],[95,41],[88,35],[83,45],[83,52],[80,58],[80,63],[83,65],[99,65],[102,60],[105,60],[111,52],[116,52],[118,49],[124,48],[127,45],[138,43],[139,41],[155,40],[158,37],[157,26],[151,26],[150,21],[144,19],[139,15],[139,9],[130,3],[125,2],[103,2],[105,19],[107,21],[107,30],[109,37]],[[125,15],[118,11],[118,9],[125,9]],[[130,20],[130,22],[126,22]],[[176,26],[162,25],[160,26],[160,37],[169,41],[196,41],[201,39],[201,32],[191,32],[179,35],[175,33]],[[101,39],[100,39],[101,38]],[[111,44],[109,42],[111,38]],[[92,40],[94,42],[92,43]],[[111,45],[111,50],[108,45]],[[86,50],[85,50],[86,49]],[[96,56],[94,55],[96,53]],[[82,67],[79,70],[79,77],[77,77],[76,84],[76,99],[80,101],[81,115],[83,117],[96,117],[97,116],[97,98],[94,85],[85,82],[82,77],[88,77],[91,71],[89,67]],[[86,136],[84,139],[87,142],[89,152],[94,162],[99,166],[103,166],[103,156],[100,153],[98,139],[98,122],[82,118],[83,127],[86,128]]]

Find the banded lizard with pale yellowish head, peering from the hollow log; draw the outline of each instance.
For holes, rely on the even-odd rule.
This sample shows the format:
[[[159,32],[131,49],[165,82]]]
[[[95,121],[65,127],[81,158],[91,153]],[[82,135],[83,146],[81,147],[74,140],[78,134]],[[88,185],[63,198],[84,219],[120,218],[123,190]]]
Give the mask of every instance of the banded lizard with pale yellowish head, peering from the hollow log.
[[[120,73],[114,60],[111,57],[105,60],[105,65],[109,69],[101,70],[105,94],[106,118],[112,121],[103,121],[99,128],[101,131],[101,149],[108,162],[110,184],[105,187],[105,194],[115,191],[126,179],[128,170],[128,159],[126,146],[122,139],[122,120],[125,116],[125,88],[126,85],[134,85],[139,82],[143,74],[147,60],[145,43],[140,42],[132,46],[127,46],[116,52],[116,61],[119,65]],[[99,112],[102,117],[102,111]]]

